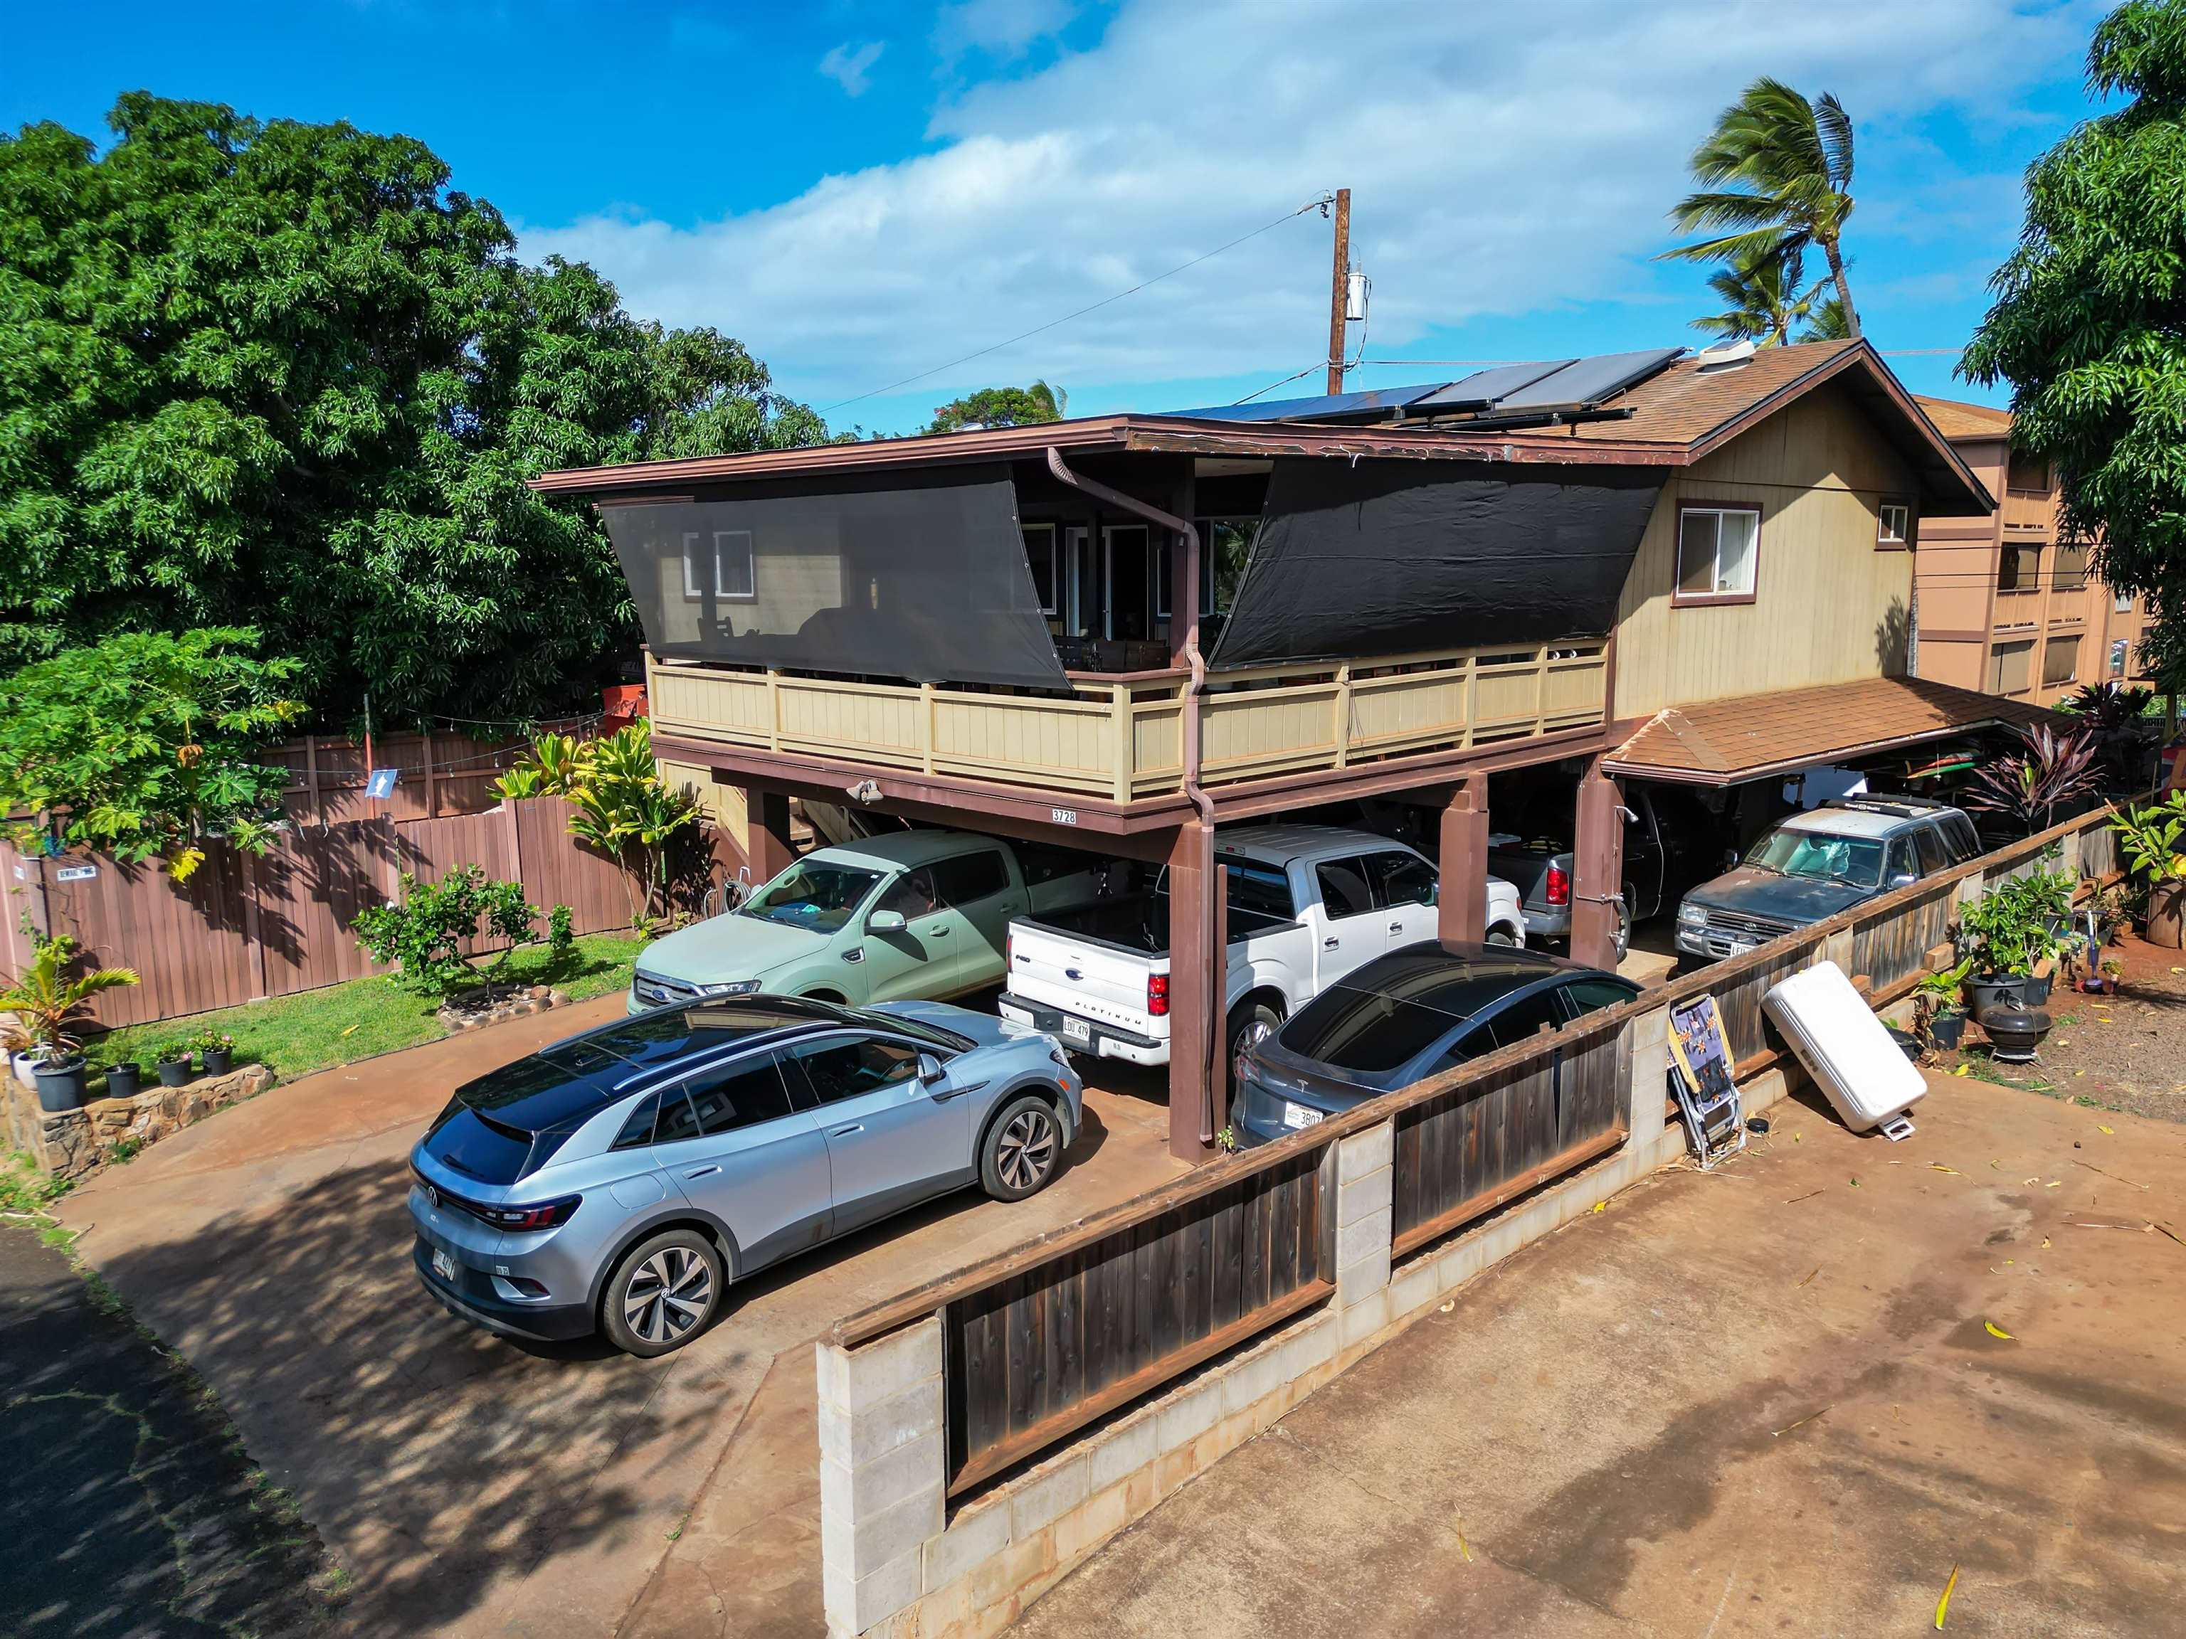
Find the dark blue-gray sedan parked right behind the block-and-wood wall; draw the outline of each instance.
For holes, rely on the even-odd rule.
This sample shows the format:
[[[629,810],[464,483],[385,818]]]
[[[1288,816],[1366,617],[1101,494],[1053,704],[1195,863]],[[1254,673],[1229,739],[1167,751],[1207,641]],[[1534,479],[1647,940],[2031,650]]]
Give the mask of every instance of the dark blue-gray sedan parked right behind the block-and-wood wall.
[[[1637,994],[1631,979],[1541,951],[1456,942],[1390,951],[1237,1056],[1237,1145],[1272,1143]]]

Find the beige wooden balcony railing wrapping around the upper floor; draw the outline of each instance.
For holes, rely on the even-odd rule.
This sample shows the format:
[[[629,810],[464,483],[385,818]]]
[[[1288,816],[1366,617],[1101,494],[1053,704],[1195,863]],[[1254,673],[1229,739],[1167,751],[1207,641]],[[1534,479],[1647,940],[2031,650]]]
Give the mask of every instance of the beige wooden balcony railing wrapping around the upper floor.
[[[654,732],[1115,802],[1183,789],[1176,671],[1071,675],[1071,695],[874,684],[649,660]],[[1605,719],[1602,640],[1220,671],[1207,785],[1471,750]]]

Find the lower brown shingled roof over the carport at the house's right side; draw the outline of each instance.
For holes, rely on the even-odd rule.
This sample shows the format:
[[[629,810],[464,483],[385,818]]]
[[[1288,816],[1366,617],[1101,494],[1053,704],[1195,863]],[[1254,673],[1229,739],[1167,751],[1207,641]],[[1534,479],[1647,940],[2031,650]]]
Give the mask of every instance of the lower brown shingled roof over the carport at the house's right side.
[[[1862,677],[1657,712],[1605,758],[1613,774],[1738,785],[1974,728],[2048,723],[2055,712],[1928,677]]]

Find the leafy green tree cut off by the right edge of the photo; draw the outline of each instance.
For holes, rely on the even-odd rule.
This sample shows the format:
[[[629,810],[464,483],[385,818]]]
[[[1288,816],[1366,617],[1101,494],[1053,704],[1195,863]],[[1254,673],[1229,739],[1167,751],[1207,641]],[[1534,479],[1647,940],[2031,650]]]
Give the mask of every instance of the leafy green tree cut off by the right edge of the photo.
[[[2011,382],[2013,437],[2059,474],[2064,529],[2158,616],[2144,660],[2186,684],[2186,4],[2131,0],[2088,48],[2088,92],[2131,98],[2026,173],[2026,227],[1991,280],[1967,380]]]

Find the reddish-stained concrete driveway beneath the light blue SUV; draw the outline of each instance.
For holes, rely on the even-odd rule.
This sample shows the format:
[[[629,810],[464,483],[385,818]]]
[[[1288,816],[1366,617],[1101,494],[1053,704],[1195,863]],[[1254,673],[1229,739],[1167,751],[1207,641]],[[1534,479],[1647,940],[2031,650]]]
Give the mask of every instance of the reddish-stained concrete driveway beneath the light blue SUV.
[[[708,1486],[732,1497],[732,1532],[763,1525],[774,1549],[728,1600],[704,1591],[700,1558],[645,1619],[820,1630],[811,1340],[1178,1171],[1161,1088],[1135,1082],[1089,1095],[1071,1169],[1030,1202],[955,1195],[769,1270],[665,1359],[525,1348],[450,1320],[411,1272],[411,1141],[457,1082],[621,1005],[273,1088],[61,1206],[81,1257],[212,1383],[354,1578],[352,1632],[614,1632],[671,1547],[704,1554],[728,1528]]]

